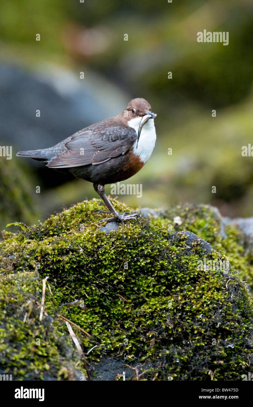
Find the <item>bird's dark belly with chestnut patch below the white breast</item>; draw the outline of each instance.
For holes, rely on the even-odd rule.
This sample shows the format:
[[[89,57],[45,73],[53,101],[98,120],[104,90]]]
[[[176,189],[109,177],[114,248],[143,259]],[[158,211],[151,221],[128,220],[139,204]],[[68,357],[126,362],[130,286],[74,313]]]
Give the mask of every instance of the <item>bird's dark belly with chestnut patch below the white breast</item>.
[[[84,165],[69,168],[75,177],[95,184],[114,184],[132,177],[143,167],[144,163],[132,151],[126,155],[112,158],[97,165]]]

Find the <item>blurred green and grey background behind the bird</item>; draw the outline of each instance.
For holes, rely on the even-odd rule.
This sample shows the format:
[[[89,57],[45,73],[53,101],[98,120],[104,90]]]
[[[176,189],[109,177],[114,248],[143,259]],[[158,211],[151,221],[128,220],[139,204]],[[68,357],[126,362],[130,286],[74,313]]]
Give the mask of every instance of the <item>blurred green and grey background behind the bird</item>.
[[[157,141],[127,181],[143,196],[119,200],[253,215],[253,157],[242,157],[253,145],[252,0],[1,0],[0,9],[0,145],[13,146],[12,160],[0,157],[1,228],[97,198],[92,184],[15,153],[51,147],[135,97],[157,113]],[[229,45],[198,43],[204,29],[228,31]]]

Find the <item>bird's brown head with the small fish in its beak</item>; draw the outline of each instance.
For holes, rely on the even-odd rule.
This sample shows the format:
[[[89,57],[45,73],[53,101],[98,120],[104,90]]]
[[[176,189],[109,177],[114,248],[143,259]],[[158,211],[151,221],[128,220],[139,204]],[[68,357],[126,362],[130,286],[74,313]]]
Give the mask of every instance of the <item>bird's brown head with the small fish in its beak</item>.
[[[122,112],[125,120],[130,123],[132,119],[140,119],[139,129],[137,134],[137,144],[138,147],[139,138],[141,135],[141,129],[147,123],[148,120],[154,119],[156,117],[155,113],[152,113],[150,104],[143,98],[132,99]]]

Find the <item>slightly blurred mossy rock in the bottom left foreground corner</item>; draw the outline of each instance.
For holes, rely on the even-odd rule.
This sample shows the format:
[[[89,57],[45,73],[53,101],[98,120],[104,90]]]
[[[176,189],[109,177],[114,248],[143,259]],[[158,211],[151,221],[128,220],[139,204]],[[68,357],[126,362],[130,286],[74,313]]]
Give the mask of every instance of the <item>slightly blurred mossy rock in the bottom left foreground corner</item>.
[[[59,322],[50,315],[39,320],[41,291],[37,271],[1,275],[0,374],[12,374],[12,380],[80,380],[85,373],[75,368],[79,359],[69,335],[59,334]],[[55,316],[50,300],[46,311]]]

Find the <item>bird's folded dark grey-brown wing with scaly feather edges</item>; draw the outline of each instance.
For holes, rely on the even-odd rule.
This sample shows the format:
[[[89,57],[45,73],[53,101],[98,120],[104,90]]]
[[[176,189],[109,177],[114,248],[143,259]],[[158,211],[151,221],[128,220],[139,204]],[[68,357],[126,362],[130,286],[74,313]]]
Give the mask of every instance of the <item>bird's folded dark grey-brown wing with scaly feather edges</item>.
[[[70,136],[66,149],[48,162],[50,168],[78,167],[101,164],[125,154],[137,138],[129,126],[90,126]]]

